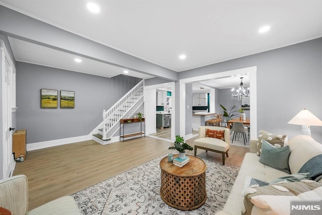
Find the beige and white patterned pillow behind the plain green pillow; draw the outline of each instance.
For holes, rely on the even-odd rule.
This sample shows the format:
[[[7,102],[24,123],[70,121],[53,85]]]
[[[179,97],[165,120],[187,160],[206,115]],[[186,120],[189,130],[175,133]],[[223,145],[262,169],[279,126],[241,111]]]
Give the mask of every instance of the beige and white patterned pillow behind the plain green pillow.
[[[263,140],[268,142],[271,145],[278,144],[280,147],[283,147],[284,144],[287,143],[287,135],[275,135],[271,134],[267,131],[260,131],[260,135],[258,136],[258,143],[257,143],[257,154],[261,155],[262,143]],[[276,145],[275,145],[276,146]]]

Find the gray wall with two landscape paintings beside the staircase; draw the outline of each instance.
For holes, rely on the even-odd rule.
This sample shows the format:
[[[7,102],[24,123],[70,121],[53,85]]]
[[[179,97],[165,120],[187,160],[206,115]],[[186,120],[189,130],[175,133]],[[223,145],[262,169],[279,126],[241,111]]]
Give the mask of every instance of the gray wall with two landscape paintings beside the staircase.
[[[17,129],[27,144],[88,135],[108,110],[141,79],[113,78],[17,62]],[[75,108],[40,108],[40,89],[75,91]],[[59,91],[58,91],[59,95]]]

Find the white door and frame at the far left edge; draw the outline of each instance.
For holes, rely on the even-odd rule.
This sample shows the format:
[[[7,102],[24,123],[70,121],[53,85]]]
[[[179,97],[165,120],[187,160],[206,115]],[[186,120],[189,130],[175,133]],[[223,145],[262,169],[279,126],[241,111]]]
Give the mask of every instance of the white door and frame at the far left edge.
[[[0,179],[12,176],[15,169],[15,160],[12,152],[12,112],[16,110],[13,108],[15,104],[16,92],[16,68],[8,53],[3,40],[1,44],[1,65],[2,65],[2,143],[0,165],[2,171],[0,172]]]

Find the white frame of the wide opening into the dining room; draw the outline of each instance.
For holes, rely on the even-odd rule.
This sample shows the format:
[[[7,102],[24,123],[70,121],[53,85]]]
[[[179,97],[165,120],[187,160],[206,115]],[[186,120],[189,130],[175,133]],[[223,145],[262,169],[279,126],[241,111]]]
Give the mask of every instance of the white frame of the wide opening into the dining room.
[[[179,80],[180,84],[180,104],[186,103],[186,83],[192,83],[196,81],[203,81],[208,79],[215,79],[239,74],[250,74],[250,91],[251,91],[251,99],[250,99],[250,120],[251,120],[251,139],[257,138],[257,66],[229,70],[224,72],[218,72],[208,75],[201,75],[191,78],[184,78]],[[185,137],[186,134],[186,109],[185,105],[180,105],[180,135]]]

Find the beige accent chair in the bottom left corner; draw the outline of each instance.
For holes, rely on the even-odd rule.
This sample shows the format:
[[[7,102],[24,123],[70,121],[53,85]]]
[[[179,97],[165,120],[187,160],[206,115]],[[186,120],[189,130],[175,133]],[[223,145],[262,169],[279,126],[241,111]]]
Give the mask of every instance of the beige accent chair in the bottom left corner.
[[[82,214],[71,196],[63,196],[28,211],[28,180],[17,175],[0,180],[0,206],[15,215],[74,215]]]

